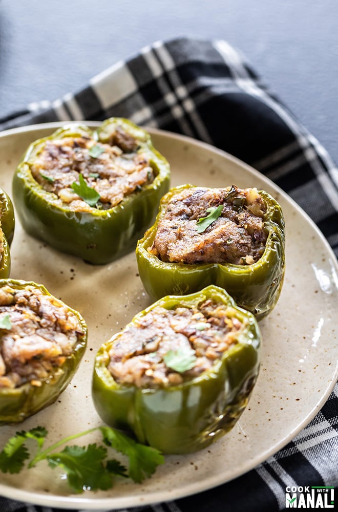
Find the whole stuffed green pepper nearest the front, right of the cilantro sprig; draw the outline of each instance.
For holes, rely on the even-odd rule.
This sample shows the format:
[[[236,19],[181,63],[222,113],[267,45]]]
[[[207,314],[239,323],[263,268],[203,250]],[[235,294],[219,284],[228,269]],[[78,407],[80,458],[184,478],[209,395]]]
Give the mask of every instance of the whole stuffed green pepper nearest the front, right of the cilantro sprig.
[[[200,450],[245,409],[260,343],[255,316],[222,288],[163,297],[99,349],[97,412],[163,453]]]

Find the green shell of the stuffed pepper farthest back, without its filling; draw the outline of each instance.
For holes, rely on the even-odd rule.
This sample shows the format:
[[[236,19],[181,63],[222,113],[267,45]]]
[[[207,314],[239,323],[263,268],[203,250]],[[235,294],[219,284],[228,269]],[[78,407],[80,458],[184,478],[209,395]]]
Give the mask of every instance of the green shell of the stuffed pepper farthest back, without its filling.
[[[47,141],[69,137],[89,137],[112,145],[116,130],[135,138],[137,153],[145,154],[155,175],[122,201],[109,208],[90,206],[90,211],[74,211],[67,202],[46,190],[32,176],[31,168]],[[94,155],[94,158],[97,155]],[[19,163],[13,178],[14,204],[25,230],[52,247],[92,264],[105,264],[134,249],[144,230],[156,216],[160,198],[170,181],[166,159],[153,147],[150,135],[129,120],[112,118],[92,132],[87,126],[70,124],[33,142]]]

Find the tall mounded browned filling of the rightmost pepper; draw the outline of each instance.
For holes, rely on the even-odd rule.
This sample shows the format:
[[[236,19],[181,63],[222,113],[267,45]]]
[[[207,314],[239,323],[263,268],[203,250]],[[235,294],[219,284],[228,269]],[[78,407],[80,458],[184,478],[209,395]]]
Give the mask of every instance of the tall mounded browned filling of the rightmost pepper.
[[[222,205],[203,232],[199,220]],[[266,204],[256,188],[191,187],[175,194],[148,249],[163,262],[251,265],[265,249]]]

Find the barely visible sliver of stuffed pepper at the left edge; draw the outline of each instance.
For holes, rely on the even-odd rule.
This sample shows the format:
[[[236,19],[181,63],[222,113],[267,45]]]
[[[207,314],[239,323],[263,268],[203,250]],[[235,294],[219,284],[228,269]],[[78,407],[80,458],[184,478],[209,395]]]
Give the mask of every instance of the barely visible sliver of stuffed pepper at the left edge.
[[[11,270],[10,245],[14,236],[13,204],[0,188],[0,279],[9,277]]]

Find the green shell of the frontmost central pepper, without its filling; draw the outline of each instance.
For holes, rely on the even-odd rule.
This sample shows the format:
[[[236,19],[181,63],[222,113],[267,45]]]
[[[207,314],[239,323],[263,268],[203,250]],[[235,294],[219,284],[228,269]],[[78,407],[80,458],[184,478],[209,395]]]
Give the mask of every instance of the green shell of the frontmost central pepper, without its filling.
[[[103,421],[132,431],[141,443],[168,454],[195,452],[233,428],[259,372],[261,335],[254,315],[237,307],[225,290],[211,285],[185,296],[166,296],[136,315],[130,325],[157,306],[194,308],[208,299],[228,306],[229,315],[242,326],[236,343],[211,368],[190,380],[157,388],[118,383],[108,364],[109,351],[121,333],[101,346],[95,358],[92,396]]]

